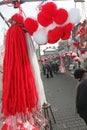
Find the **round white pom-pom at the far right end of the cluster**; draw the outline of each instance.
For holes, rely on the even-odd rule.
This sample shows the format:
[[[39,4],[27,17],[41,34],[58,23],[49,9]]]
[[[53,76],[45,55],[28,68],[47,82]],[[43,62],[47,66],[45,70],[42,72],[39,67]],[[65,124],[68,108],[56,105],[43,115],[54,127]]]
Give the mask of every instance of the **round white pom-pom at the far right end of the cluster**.
[[[72,8],[69,10],[69,21],[73,24],[78,24],[81,20],[80,9]]]

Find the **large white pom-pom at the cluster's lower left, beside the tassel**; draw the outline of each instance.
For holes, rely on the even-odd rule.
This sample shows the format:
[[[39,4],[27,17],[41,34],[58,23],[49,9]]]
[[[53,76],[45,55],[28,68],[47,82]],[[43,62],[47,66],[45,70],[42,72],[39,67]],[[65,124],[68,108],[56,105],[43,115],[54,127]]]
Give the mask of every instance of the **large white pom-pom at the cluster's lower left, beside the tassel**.
[[[44,28],[39,28],[33,33],[33,39],[39,45],[46,44],[48,42],[46,30]]]

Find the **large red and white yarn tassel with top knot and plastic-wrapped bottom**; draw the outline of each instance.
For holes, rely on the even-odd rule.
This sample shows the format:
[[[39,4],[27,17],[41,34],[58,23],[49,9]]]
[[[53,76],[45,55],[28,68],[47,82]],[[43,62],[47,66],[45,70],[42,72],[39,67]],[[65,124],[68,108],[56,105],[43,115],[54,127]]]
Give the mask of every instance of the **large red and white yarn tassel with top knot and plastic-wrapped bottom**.
[[[40,130],[49,127],[49,123],[39,113],[43,103],[46,103],[46,97],[39,79],[40,72],[33,45],[28,45],[33,42],[26,33],[22,12],[13,15],[9,22],[11,25],[6,32],[3,62],[1,112],[4,121],[1,130]],[[36,71],[28,47],[33,51],[39,83],[36,82]]]

